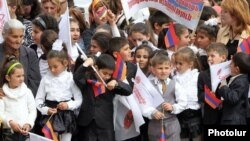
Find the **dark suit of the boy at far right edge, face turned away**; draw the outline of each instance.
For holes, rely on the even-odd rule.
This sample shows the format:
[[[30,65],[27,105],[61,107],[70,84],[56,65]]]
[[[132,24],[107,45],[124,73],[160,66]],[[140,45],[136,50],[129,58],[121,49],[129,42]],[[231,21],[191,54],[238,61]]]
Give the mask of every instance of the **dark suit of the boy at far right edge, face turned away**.
[[[246,125],[248,91],[249,81],[246,74],[231,77],[228,84],[218,90],[218,95],[224,99],[221,124]]]

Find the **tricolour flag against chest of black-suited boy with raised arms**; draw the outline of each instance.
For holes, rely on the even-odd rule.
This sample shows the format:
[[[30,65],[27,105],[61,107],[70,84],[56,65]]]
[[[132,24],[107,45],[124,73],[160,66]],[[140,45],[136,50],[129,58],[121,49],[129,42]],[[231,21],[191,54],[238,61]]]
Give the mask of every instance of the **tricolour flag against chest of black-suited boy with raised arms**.
[[[106,88],[101,82],[90,79],[88,79],[87,82],[92,85],[95,97],[104,94],[106,92]]]

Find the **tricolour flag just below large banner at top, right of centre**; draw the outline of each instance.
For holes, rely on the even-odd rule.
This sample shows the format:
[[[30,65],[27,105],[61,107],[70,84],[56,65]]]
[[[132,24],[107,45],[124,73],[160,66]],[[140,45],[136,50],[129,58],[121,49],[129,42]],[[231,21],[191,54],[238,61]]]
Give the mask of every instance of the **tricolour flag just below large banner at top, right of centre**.
[[[179,38],[175,33],[174,24],[172,22],[170,23],[166,36],[164,37],[164,42],[166,48],[170,48],[179,43]]]

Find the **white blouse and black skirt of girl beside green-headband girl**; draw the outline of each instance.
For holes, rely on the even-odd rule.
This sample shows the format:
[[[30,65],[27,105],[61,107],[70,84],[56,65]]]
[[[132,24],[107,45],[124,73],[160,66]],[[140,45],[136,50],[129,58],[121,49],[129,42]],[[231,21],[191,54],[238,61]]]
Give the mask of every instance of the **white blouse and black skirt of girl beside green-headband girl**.
[[[41,80],[37,96],[36,107],[43,115],[40,123],[45,124],[50,115],[48,109],[56,108],[60,102],[66,102],[68,110],[59,110],[52,116],[51,123],[55,132],[72,133],[76,130],[75,109],[82,103],[82,95],[73,81],[73,75],[66,70],[58,76],[48,72]]]

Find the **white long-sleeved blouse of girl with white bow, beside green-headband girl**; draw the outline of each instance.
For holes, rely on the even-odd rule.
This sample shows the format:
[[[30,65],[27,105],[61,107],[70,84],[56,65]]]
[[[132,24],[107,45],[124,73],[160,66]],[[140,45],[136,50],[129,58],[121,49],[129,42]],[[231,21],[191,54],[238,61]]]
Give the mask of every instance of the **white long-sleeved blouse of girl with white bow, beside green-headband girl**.
[[[74,98],[74,100],[71,98]],[[47,106],[41,107],[45,100],[57,102],[68,101],[66,103],[68,104],[69,110],[80,107],[82,94],[73,81],[71,72],[65,70],[58,76],[54,76],[49,71],[42,78],[36,95],[36,107],[43,115],[47,115],[49,109]]]

